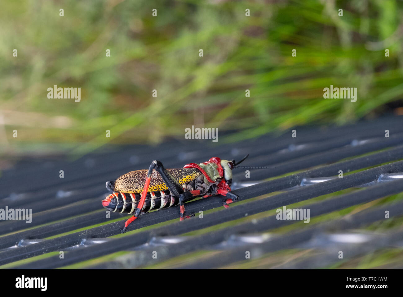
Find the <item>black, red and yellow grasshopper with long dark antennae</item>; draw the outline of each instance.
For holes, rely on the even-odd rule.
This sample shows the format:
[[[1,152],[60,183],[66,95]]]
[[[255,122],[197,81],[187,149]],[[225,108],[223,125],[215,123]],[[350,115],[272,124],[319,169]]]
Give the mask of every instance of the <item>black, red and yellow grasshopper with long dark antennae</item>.
[[[185,202],[197,197],[208,197],[213,194],[226,196],[223,205],[238,199],[231,193],[232,170],[234,168],[267,168],[238,166],[241,161],[221,160],[213,157],[207,162],[190,163],[183,169],[165,169],[160,161],[152,161],[147,170],[131,171],[118,177],[114,182],[107,181],[106,188],[113,192],[104,200],[102,205],[109,211],[119,213],[134,213],[125,226],[120,229],[125,233],[127,226],[140,217],[141,212],[152,209],[163,209],[179,204],[180,220],[185,216]]]

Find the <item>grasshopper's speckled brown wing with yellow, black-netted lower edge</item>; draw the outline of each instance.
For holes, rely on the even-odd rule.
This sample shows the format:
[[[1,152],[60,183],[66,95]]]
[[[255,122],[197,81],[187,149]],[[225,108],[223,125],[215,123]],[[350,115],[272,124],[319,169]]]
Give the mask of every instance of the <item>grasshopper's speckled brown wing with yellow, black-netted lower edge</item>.
[[[195,168],[167,169],[179,183],[193,181],[202,173]],[[144,189],[147,169],[131,171],[118,177],[114,183],[114,190],[125,193],[141,193]],[[150,187],[148,192],[165,191],[168,187],[162,180],[160,173],[153,170],[151,175]]]

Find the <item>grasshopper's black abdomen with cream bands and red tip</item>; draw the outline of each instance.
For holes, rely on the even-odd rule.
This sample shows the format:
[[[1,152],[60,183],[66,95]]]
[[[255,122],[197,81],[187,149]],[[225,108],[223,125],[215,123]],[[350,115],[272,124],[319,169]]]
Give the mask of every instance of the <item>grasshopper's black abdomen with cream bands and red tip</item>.
[[[114,213],[134,213],[140,201],[141,193],[114,192],[102,200],[102,205]],[[145,196],[143,211],[163,209],[179,204],[179,198],[170,194],[169,190],[148,192]]]

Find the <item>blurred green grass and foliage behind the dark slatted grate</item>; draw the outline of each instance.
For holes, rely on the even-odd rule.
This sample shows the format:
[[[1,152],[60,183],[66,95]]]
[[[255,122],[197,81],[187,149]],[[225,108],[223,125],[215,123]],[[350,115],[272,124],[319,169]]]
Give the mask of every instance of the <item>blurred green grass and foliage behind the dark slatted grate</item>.
[[[237,131],[220,138],[235,141],[295,125],[403,114],[402,1],[2,0],[0,6],[3,152],[158,143],[183,139],[191,125]],[[81,87],[81,102],[48,99],[55,84]],[[331,84],[357,87],[357,102],[324,99]]]

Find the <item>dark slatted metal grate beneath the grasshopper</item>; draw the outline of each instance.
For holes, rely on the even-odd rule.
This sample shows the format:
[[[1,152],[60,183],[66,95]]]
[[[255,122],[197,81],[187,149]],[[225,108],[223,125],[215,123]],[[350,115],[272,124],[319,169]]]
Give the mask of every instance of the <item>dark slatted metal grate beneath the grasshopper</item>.
[[[385,210],[391,212],[391,217],[402,216],[403,202],[400,200],[309,224],[278,220],[275,215],[265,215],[264,212],[333,193],[325,200],[315,200],[303,206],[310,209],[312,220],[403,192],[400,179],[403,176],[396,174],[403,172],[403,161],[399,161],[403,159],[402,123],[402,117],[393,117],[326,129],[300,127],[295,128],[297,138],[292,138],[290,132],[230,145],[171,141],[156,147],[109,149],[75,162],[60,158],[38,159],[35,162],[32,158],[22,160],[5,171],[0,179],[3,189],[8,192],[9,189],[18,190],[16,193],[3,192],[8,196],[0,199],[0,208],[33,209],[33,220],[31,224],[0,221],[0,265],[65,251],[64,259],[54,255],[12,266],[59,268],[118,251],[134,250],[126,256],[83,267],[137,268],[203,250],[216,253],[192,257],[191,263],[176,267],[218,268],[243,263],[245,251],[250,251],[251,259],[261,259],[280,250],[314,249],[317,253],[308,255],[306,259],[287,261],[277,267],[320,268],[338,261],[331,255],[340,250],[345,251],[346,259],[351,259],[399,244],[403,236],[401,230],[392,228],[382,234],[351,230],[384,219]],[[390,131],[390,137],[384,136],[385,130]],[[203,218],[196,215],[184,222],[171,221],[178,220],[178,207],[153,211],[129,226],[129,231],[135,232],[111,238],[119,234],[119,227],[128,217],[112,214],[111,219],[106,218],[100,204],[106,196],[106,180],[113,180],[128,171],[148,168],[154,159],[172,168],[188,162],[203,162],[212,156],[239,159],[247,153],[251,156],[245,165],[267,165],[269,169],[251,170],[250,178],[245,178],[242,170],[234,171],[233,180],[238,185],[249,180],[262,182],[235,190],[240,199],[229,209],[222,207],[222,197],[200,199],[186,204],[187,213],[198,214],[199,211],[216,208],[218,211],[206,213]],[[306,169],[309,170],[302,171]],[[59,170],[64,170],[63,179],[59,178]],[[344,173],[343,178],[337,177],[340,170]],[[302,172],[290,174],[296,171]],[[342,195],[336,193],[346,189],[355,190]],[[248,219],[257,214],[260,217]],[[122,219],[109,222],[119,217]],[[228,222],[231,225],[226,224]],[[101,223],[98,227],[88,228]],[[164,224],[153,226],[158,223]],[[295,224],[292,230],[276,230],[291,224]],[[25,230],[27,226],[29,230]],[[152,228],[139,230],[150,226]],[[80,228],[86,229],[61,235]],[[182,236],[204,228],[214,230]],[[351,244],[337,238],[355,238],[358,241]],[[154,251],[157,259],[152,257]]]

